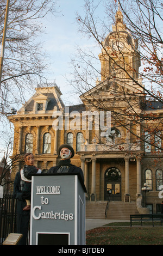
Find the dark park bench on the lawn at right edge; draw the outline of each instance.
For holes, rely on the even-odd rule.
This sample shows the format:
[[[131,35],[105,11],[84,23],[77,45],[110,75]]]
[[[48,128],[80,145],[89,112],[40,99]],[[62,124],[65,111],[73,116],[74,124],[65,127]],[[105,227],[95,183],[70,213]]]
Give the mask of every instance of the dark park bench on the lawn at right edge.
[[[132,221],[140,221],[141,225],[143,221],[152,221],[154,227],[154,221],[163,221],[163,214],[136,214],[130,215],[130,227],[132,227]]]

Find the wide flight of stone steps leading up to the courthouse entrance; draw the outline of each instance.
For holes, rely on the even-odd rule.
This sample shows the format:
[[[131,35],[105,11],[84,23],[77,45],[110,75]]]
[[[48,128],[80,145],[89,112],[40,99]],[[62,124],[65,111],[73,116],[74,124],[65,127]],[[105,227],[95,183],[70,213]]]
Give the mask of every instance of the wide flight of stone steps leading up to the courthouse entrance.
[[[104,219],[106,204],[106,201],[86,201],[86,218]],[[109,202],[106,219],[130,220],[130,214],[139,214],[135,202],[112,201]]]

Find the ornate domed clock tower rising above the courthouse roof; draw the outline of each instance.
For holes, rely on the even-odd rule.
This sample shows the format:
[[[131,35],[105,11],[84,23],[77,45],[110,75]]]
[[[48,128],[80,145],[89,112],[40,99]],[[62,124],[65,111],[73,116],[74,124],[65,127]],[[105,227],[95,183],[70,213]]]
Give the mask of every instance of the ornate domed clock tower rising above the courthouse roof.
[[[101,80],[130,80],[139,78],[140,56],[137,52],[137,40],[127,31],[123,23],[123,15],[118,9],[112,32],[103,42],[101,60]]]

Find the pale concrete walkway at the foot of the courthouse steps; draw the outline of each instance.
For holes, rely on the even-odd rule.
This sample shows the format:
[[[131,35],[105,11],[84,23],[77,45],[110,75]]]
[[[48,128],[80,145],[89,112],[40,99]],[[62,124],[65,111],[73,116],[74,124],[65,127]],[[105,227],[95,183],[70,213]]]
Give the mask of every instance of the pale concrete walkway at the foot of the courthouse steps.
[[[128,220],[96,220],[96,219],[89,219],[85,220],[85,230],[90,230],[93,228],[102,227],[103,225],[112,223],[112,222],[127,222]]]

